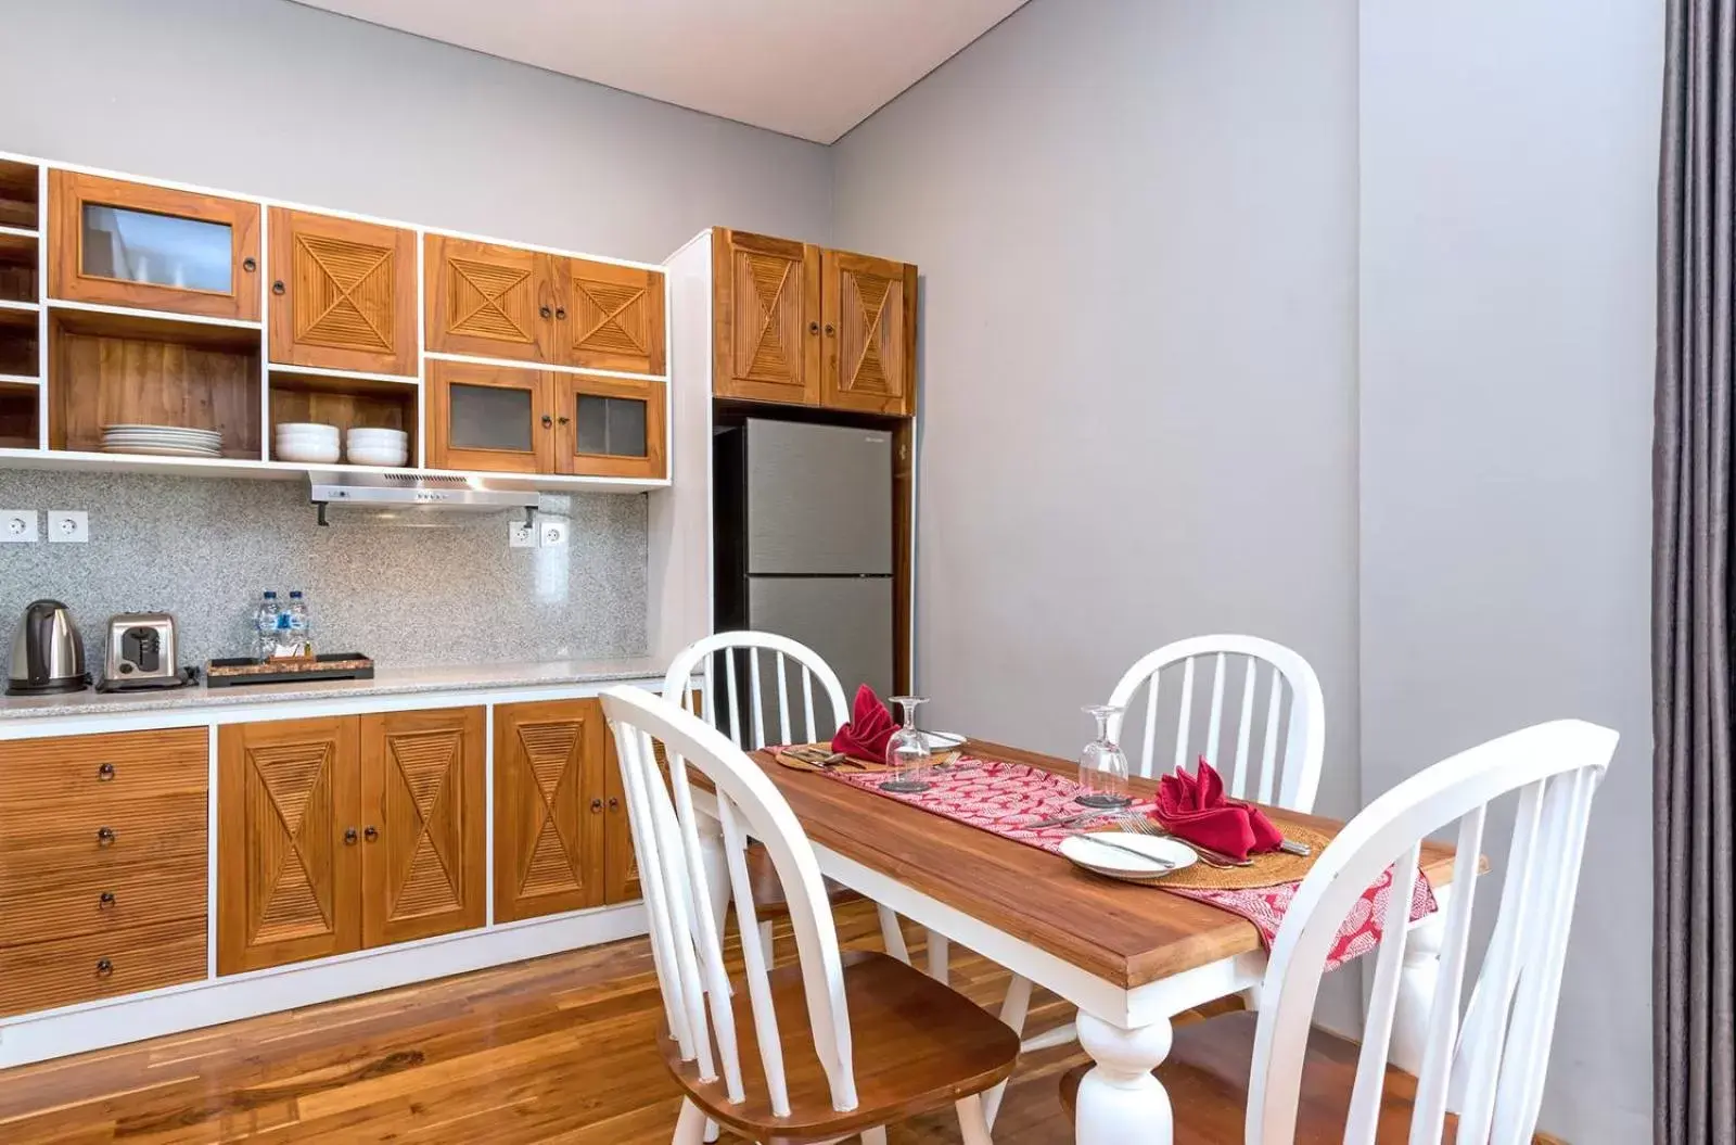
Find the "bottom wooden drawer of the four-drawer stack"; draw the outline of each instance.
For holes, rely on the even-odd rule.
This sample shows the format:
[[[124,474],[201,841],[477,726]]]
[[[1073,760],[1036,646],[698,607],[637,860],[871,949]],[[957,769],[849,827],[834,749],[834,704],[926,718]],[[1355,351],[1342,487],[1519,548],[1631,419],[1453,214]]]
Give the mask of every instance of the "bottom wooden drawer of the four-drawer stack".
[[[205,914],[113,935],[5,947],[0,949],[0,1015],[196,982],[205,976]]]

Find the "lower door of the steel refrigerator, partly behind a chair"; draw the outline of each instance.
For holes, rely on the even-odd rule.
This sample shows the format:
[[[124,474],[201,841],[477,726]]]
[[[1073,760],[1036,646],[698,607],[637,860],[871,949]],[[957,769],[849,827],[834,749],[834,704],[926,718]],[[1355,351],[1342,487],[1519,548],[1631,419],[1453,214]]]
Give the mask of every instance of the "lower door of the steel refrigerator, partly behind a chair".
[[[892,692],[892,580],[889,577],[750,577],[748,615],[760,632],[778,632],[818,652],[844,685],[849,704],[858,685]],[[760,665],[766,667],[764,664]],[[776,679],[762,681],[776,712]],[[793,678],[800,688],[800,678]],[[799,692],[792,693],[799,695]],[[816,697],[814,714],[825,719]],[[847,718],[847,712],[845,712]],[[776,725],[776,714],[766,725]]]

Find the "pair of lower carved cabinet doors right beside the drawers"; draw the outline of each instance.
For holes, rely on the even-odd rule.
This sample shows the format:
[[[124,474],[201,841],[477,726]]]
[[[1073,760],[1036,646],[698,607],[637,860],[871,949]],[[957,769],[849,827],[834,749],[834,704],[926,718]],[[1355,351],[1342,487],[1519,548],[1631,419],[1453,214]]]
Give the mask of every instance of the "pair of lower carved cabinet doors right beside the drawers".
[[[439,709],[217,735],[217,971],[483,924],[484,716]]]

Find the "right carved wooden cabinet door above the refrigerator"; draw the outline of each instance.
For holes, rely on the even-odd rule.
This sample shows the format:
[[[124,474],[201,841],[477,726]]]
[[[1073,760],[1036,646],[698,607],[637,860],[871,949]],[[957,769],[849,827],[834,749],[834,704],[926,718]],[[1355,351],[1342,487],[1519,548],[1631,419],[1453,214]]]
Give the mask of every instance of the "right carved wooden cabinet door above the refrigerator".
[[[917,268],[825,252],[826,328],[819,401],[833,410],[917,412]]]

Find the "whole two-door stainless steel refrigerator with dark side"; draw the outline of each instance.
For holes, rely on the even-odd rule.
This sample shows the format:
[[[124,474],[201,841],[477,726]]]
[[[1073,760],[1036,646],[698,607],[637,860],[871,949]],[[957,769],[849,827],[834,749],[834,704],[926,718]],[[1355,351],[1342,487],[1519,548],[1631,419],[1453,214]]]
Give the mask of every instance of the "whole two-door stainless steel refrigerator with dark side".
[[[750,417],[719,431],[713,459],[719,631],[788,636],[847,697],[889,695],[892,434]]]

